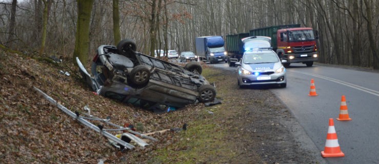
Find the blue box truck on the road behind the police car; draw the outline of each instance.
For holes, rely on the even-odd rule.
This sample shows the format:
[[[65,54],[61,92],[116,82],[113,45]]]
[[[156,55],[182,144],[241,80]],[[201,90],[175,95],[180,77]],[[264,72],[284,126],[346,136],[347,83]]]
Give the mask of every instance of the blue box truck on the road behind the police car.
[[[224,38],[222,36],[200,36],[196,37],[196,55],[200,61],[209,62],[210,64],[226,62],[224,48]]]

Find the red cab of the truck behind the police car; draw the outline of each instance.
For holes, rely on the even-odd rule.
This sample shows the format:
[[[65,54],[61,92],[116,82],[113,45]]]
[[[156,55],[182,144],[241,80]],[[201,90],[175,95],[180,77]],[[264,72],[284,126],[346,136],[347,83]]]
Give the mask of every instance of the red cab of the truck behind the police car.
[[[278,29],[276,33],[276,53],[284,66],[291,63],[304,63],[307,67],[318,60],[316,40],[317,32],[312,28]]]

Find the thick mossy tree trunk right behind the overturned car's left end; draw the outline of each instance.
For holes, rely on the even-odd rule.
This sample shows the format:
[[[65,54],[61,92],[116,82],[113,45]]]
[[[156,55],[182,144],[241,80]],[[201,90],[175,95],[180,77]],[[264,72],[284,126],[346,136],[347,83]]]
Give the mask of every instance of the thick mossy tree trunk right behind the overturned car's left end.
[[[91,17],[93,0],[77,0],[77,25],[75,33],[75,57],[79,57],[83,65],[87,65],[89,51],[89,23]]]

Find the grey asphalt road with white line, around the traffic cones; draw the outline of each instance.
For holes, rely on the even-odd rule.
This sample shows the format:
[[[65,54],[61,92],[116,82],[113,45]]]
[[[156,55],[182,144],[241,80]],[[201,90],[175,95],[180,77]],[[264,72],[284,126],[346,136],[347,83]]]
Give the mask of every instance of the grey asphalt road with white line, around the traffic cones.
[[[225,63],[213,67],[236,70]],[[308,96],[314,79],[318,96]],[[334,118],[338,143],[345,157],[327,163],[379,163],[379,73],[304,64],[287,68],[287,88],[270,89],[291,110],[318,151],[323,151],[329,118]],[[351,121],[338,121],[346,96]],[[321,156],[321,153],[320,153]]]

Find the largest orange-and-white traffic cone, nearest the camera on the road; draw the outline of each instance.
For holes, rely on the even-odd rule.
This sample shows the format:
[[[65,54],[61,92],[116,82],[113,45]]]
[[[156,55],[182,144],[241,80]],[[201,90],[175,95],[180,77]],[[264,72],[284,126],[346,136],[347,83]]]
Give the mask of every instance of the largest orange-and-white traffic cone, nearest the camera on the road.
[[[328,135],[326,136],[325,149],[321,152],[323,157],[344,157],[338,144],[337,133],[335,133],[333,118],[329,118]]]

